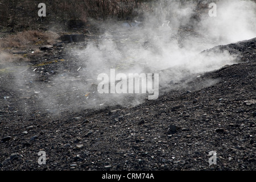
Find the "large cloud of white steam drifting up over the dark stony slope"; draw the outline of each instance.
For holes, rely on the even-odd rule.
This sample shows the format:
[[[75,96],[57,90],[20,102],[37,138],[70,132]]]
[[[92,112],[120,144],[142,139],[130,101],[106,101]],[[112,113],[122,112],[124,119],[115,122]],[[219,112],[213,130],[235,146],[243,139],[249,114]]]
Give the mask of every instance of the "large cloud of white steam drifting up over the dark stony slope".
[[[203,2],[208,6],[207,1]],[[168,87],[170,81],[179,82],[188,75],[235,63],[234,57],[228,52],[208,55],[200,52],[220,44],[256,37],[256,3],[235,0],[216,1],[216,5],[217,17],[208,15],[209,8],[195,20],[196,5],[192,1],[184,6],[180,6],[179,1],[159,1],[153,12],[144,14],[143,20],[98,24],[99,28],[105,29],[98,42],[88,43],[85,48],[70,52],[81,62],[80,75],[90,81],[76,83],[67,80],[65,84],[60,84],[53,80],[53,86],[47,89],[38,85],[40,104],[50,110],[56,105],[63,110],[108,105],[133,106],[140,104],[145,96],[97,94],[98,75],[109,74],[112,68],[117,73],[125,74],[160,73],[160,84]],[[168,72],[163,71],[167,69]],[[77,94],[77,89],[82,94]],[[172,89],[171,85],[169,89]],[[63,96],[62,99],[56,99],[56,90],[58,97]],[[82,104],[71,102],[72,98],[81,98]]]

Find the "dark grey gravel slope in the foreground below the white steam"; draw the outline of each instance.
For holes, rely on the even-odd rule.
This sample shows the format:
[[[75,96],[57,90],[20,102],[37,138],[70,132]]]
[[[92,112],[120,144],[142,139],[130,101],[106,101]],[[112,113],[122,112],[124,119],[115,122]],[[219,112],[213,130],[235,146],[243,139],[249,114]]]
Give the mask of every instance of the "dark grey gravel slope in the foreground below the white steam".
[[[0,73],[0,169],[255,170],[256,38],[217,48],[239,56],[240,63],[191,76],[186,87],[134,107],[66,107],[54,115],[37,106],[40,90],[26,96],[32,83],[22,71],[17,74],[26,84],[17,88],[14,73]],[[64,52],[57,56],[65,59]],[[79,68],[58,63],[62,71],[65,64]],[[56,65],[45,65],[48,74],[35,82],[50,88]],[[201,86],[209,79],[218,81]],[[82,104],[74,100],[67,102]],[[38,164],[40,150],[46,165]],[[210,151],[217,152],[216,165],[209,166]]]

